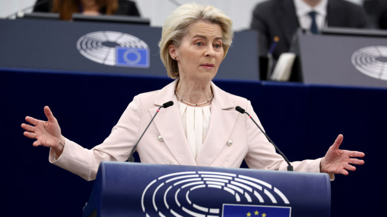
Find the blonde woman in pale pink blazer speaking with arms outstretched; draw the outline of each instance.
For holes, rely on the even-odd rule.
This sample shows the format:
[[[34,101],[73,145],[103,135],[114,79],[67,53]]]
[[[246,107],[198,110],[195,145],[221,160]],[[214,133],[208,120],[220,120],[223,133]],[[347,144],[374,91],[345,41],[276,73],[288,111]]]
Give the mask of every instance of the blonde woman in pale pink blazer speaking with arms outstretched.
[[[26,117],[24,135],[37,139],[34,146],[51,148],[51,163],[86,180],[96,177],[101,161],[126,161],[152,116],[165,102],[173,101],[150,123],[137,146],[141,162],[204,167],[240,167],[286,170],[265,135],[237,106],[258,120],[249,100],[226,93],[211,80],[227,54],[233,38],[232,21],[213,6],[184,4],[167,17],[159,43],[161,59],[174,82],[161,90],[139,94],[129,103],[111,134],[92,150],[82,148],[61,134],[48,106],[48,121]],[[259,121],[258,124],[260,125]],[[358,151],[339,150],[340,134],[325,157],[293,162],[295,171],[341,173],[362,165]]]

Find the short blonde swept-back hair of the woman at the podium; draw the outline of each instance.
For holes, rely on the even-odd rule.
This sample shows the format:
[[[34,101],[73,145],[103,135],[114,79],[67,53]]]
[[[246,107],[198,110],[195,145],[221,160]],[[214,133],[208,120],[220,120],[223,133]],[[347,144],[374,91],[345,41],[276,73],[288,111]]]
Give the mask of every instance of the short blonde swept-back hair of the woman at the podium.
[[[159,42],[161,60],[166,67],[168,77],[172,79],[179,77],[179,68],[177,61],[169,55],[169,45],[179,47],[186,34],[187,26],[197,21],[211,22],[221,26],[223,59],[231,46],[234,31],[232,29],[233,22],[229,17],[214,6],[197,3],[183,4],[166,18]]]

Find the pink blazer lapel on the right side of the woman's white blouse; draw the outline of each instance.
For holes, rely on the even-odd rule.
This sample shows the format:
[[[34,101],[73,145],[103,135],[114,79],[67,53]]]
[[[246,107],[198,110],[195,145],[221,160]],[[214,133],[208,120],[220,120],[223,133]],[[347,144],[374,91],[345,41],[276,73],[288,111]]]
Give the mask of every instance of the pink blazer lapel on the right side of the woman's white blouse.
[[[228,94],[211,83],[214,99],[211,103],[211,118],[207,137],[196,157],[198,166],[208,167],[226,146],[231,131],[234,128],[238,112],[228,97]]]

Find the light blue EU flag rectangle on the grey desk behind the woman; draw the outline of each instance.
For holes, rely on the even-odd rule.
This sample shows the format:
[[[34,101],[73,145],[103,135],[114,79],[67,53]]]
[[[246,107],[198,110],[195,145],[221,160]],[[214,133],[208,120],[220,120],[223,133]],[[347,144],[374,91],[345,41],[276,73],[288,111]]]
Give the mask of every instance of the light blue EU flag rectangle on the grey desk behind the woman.
[[[149,67],[149,49],[116,47],[116,66]]]

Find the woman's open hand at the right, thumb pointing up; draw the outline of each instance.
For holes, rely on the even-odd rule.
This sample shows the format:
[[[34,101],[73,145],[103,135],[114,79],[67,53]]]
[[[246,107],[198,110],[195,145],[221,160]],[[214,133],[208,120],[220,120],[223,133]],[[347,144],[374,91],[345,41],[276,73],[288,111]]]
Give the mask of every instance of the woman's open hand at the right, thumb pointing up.
[[[340,144],[343,142],[343,135],[337,136],[333,145],[329,148],[325,157],[320,163],[320,172],[335,173],[348,175],[348,171],[356,170],[356,167],[350,164],[363,165],[364,161],[353,157],[364,157],[363,152],[339,150]]]

